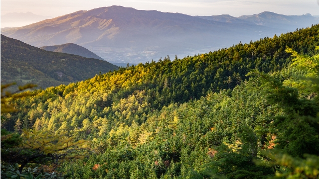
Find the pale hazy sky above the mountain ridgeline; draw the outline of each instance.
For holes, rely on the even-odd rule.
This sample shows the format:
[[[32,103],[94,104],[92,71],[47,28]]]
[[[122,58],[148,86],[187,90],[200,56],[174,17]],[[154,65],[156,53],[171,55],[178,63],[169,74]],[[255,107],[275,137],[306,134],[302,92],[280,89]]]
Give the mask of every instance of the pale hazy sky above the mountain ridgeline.
[[[1,0],[1,15],[30,11],[55,17],[111,5],[188,15],[240,16],[263,11],[286,15],[319,15],[319,0]]]

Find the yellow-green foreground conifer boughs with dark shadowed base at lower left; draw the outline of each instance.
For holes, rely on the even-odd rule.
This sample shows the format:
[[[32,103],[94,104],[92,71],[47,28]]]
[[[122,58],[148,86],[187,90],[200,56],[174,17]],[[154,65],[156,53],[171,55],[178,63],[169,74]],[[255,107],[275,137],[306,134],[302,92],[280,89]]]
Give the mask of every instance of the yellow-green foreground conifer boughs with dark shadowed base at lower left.
[[[52,135],[48,132],[26,130],[22,131],[20,143],[15,146],[1,148],[1,161],[9,164],[19,164],[19,171],[28,163],[47,164],[53,161],[57,165],[58,160],[66,156],[76,157],[72,153],[85,147],[85,141],[75,141],[64,135]]]

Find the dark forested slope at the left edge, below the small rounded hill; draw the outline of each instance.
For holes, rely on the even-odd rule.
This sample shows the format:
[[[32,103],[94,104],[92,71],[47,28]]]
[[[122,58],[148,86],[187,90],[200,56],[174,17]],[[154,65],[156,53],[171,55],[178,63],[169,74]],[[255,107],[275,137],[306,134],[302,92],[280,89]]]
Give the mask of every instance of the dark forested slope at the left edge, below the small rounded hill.
[[[116,69],[104,60],[45,51],[1,35],[1,83],[33,83],[47,88]]]

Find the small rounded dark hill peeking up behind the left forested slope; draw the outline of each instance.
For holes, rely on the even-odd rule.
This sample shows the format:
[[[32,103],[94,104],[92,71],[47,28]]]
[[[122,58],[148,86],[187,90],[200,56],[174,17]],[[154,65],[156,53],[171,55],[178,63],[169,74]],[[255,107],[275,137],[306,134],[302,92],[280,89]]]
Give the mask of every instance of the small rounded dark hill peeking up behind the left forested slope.
[[[104,60],[101,57],[97,56],[95,53],[91,52],[90,50],[84,47],[81,47],[80,45],[76,45],[74,43],[43,46],[43,47],[40,47],[40,49],[51,51],[51,52],[68,53],[73,55],[79,55],[86,58],[95,58],[99,60]]]

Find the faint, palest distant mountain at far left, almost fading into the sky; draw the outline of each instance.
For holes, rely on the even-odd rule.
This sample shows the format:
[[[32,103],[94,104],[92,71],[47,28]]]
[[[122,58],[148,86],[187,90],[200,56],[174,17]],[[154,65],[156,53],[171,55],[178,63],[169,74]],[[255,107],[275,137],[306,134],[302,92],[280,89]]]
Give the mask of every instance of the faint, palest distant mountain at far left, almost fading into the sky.
[[[52,16],[36,15],[32,12],[11,12],[1,15],[1,28],[21,27],[41,20],[52,18]]]

